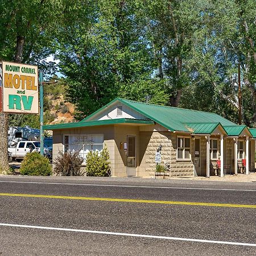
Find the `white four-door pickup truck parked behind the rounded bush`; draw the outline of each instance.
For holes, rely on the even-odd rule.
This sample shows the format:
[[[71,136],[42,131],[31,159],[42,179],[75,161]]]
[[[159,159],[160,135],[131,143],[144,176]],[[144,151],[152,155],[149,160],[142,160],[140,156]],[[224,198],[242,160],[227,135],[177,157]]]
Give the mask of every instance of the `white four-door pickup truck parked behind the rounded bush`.
[[[19,141],[16,147],[9,147],[13,160],[23,159],[28,152],[40,152],[40,142],[38,141]],[[51,148],[44,147],[44,155],[48,158],[52,157]]]

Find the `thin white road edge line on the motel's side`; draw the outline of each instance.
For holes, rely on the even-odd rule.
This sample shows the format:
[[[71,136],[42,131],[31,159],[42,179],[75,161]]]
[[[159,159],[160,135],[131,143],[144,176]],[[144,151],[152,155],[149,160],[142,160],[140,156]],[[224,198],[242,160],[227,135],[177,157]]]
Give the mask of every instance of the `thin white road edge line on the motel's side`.
[[[52,182],[6,181],[6,180],[0,180],[0,183],[28,183],[28,184],[49,184],[49,185],[75,185],[75,186],[88,186],[88,187],[164,188],[164,189],[190,189],[190,190],[217,190],[217,191],[249,191],[249,192],[256,192],[256,189],[155,187],[155,186],[138,186],[138,185],[108,185],[108,184],[52,183]]]

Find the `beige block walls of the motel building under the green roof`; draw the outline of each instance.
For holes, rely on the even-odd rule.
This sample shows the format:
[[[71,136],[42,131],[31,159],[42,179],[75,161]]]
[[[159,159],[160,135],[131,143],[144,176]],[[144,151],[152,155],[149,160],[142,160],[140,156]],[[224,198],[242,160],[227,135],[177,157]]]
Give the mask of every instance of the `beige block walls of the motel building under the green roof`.
[[[193,162],[195,157],[195,140],[191,137],[191,160],[180,161],[176,159],[177,136],[185,134],[173,133],[160,125],[112,125],[82,127],[77,129],[65,129],[53,131],[53,161],[59,151],[63,150],[64,135],[69,134],[104,134],[104,144],[109,150],[112,176],[127,176],[127,151],[123,148],[127,142],[127,135],[136,137],[137,166],[136,176],[150,177],[155,173],[155,152],[162,144],[162,165],[170,164],[170,176],[193,176]],[[217,137],[212,137],[217,138]],[[206,138],[200,137],[200,166],[201,176],[206,176]],[[251,141],[250,163],[254,160],[255,141]],[[220,150],[220,144],[219,144]],[[234,140],[224,139],[224,164],[230,164],[234,173]]]

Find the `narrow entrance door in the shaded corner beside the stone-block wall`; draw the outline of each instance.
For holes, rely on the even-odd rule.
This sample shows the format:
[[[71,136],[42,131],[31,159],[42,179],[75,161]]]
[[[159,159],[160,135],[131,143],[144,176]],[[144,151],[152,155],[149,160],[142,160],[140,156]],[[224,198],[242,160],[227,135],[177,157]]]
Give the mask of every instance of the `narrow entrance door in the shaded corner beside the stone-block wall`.
[[[127,176],[136,176],[136,137],[127,136]]]

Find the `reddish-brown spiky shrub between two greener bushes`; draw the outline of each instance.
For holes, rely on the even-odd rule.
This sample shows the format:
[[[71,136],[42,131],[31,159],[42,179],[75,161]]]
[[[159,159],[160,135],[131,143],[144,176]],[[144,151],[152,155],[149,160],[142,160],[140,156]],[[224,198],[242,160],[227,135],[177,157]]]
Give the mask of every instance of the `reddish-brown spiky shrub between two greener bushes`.
[[[82,176],[82,162],[84,160],[80,157],[79,151],[67,153],[59,152],[57,158],[53,161],[54,172],[61,176]]]

